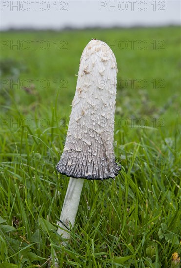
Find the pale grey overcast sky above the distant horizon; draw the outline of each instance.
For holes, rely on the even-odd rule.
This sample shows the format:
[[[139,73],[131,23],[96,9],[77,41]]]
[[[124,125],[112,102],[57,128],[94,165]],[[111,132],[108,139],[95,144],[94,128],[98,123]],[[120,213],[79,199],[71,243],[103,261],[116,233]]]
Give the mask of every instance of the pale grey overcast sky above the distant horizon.
[[[0,0],[0,29],[180,25],[180,0]]]

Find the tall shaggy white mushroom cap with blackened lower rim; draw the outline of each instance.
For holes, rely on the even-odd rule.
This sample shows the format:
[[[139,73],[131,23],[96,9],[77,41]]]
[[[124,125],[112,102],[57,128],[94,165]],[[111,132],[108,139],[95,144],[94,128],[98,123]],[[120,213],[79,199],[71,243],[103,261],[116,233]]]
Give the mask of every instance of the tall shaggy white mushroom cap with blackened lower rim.
[[[79,66],[65,148],[57,170],[73,178],[103,180],[118,175],[114,156],[117,64],[110,47],[91,40]]]

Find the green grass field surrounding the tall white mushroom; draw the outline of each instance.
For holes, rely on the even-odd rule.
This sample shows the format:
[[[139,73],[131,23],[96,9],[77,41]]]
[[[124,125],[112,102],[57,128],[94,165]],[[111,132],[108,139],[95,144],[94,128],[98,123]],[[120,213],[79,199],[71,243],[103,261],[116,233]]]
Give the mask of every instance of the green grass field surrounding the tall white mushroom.
[[[55,165],[91,38],[128,44],[110,45],[119,70],[115,155],[123,167],[115,180],[85,180],[65,248],[56,221],[69,179]],[[4,32],[1,39],[47,40],[50,48],[1,47],[0,267],[47,267],[54,250],[62,268],[171,267],[172,254],[181,255],[180,28]],[[56,40],[67,50],[56,50]],[[17,79],[31,83],[12,86]]]

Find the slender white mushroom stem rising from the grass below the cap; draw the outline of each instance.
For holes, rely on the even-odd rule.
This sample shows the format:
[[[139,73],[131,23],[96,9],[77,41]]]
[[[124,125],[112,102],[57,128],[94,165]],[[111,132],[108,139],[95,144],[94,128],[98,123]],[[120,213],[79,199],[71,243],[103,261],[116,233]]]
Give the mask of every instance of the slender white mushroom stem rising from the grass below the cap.
[[[61,211],[59,226],[61,228],[58,228],[57,232],[59,235],[63,238],[63,244],[66,244],[66,240],[70,238],[70,224],[73,228],[81,191],[83,187],[83,179],[73,179],[70,178],[65,200],[63,203],[63,208]],[[63,224],[62,224],[63,223]],[[68,232],[67,232],[68,231]]]

